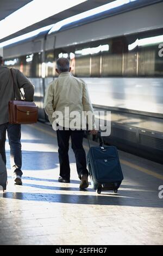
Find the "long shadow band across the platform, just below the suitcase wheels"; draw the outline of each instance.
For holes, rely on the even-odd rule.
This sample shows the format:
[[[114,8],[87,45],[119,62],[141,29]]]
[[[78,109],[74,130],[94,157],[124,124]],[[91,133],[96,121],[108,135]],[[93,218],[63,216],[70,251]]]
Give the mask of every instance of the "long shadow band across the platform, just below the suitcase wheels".
[[[48,187],[47,187],[48,189]],[[53,187],[53,190],[70,190],[70,187]],[[79,188],[71,188],[71,190],[78,190]],[[85,204],[85,205],[117,205],[117,206],[133,206],[133,207],[146,207],[146,208],[163,208],[161,200],[146,199],[150,197],[149,192],[137,192],[121,190],[120,193],[113,194],[86,194],[90,190],[85,190],[85,195],[80,194],[52,194],[52,193],[21,193],[21,192],[6,192],[3,198],[48,202],[48,203],[62,203],[62,204]],[[152,194],[153,192],[151,192]],[[139,195],[139,197],[138,197]],[[154,199],[154,198],[153,198]]]

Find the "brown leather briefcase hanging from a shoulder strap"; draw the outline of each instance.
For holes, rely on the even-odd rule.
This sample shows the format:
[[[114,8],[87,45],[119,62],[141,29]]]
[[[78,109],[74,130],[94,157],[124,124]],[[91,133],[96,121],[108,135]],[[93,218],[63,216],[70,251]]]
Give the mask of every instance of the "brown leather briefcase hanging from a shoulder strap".
[[[14,99],[15,99],[15,83],[12,74],[12,81],[14,87]],[[21,93],[21,91],[20,91]],[[23,96],[23,95],[22,95]],[[24,96],[23,96],[24,99]],[[9,101],[9,123],[10,124],[34,124],[37,122],[38,107],[34,102],[25,100],[10,100]]]

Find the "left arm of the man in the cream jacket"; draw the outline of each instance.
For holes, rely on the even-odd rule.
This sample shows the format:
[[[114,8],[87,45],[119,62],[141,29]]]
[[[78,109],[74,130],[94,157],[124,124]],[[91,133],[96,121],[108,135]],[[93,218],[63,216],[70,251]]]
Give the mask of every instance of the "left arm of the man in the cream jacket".
[[[46,90],[46,94],[45,94],[45,100],[43,103],[43,108],[45,109],[46,114],[48,115],[49,121],[51,122],[51,124],[53,123],[53,102],[54,102],[54,86],[53,86],[53,82],[49,84],[47,90]]]

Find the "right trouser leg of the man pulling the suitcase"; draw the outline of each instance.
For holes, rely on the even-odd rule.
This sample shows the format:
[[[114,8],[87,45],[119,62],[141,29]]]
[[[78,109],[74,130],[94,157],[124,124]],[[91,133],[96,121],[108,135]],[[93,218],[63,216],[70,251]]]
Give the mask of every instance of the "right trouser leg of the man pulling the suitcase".
[[[72,149],[76,157],[77,172],[78,172],[79,178],[82,174],[89,175],[89,172],[86,169],[86,155],[85,155],[85,150],[83,148],[83,137],[84,137],[84,131],[82,130],[71,131]]]

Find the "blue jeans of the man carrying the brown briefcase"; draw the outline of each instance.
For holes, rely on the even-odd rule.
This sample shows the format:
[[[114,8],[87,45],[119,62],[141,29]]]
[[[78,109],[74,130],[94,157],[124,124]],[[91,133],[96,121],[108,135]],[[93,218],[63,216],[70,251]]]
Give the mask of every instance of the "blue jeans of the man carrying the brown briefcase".
[[[0,125],[0,154],[6,164],[5,156],[5,140],[6,132],[8,132],[10,145],[10,163],[11,170],[14,174],[22,176],[22,150],[21,150],[21,125],[17,124],[1,124]]]

